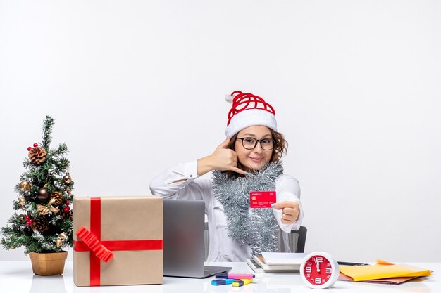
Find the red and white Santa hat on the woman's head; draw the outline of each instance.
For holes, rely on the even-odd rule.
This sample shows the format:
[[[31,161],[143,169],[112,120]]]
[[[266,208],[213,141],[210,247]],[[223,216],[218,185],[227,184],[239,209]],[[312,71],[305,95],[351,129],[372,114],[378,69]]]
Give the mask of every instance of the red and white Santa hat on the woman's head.
[[[231,95],[225,96],[225,100],[232,103],[232,108],[228,112],[226,136],[231,138],[249,126],[266,126],[277,131],[275,110],[263,98],[252,93],[233,91]]]

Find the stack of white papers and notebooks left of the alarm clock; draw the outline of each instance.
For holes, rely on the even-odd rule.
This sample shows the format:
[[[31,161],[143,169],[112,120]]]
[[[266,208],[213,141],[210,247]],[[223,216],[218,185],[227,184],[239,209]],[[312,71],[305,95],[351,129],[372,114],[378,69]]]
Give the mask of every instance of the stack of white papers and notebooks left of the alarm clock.
[[[304,256],[303,253],[263,252],[247,263],[256,273],[298,273]]]

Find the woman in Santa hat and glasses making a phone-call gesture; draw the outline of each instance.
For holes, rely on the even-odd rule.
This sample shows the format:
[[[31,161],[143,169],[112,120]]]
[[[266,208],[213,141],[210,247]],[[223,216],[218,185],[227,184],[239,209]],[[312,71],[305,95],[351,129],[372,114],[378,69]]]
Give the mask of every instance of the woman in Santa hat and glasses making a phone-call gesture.
[[[225,134],[214,152],[178,164],[154,178],[151,193],[175,200],[204,200],[209,221],[207,261],[246,261],[261,252],[290,252],[287,233],[303,212],[298,181],[283,174],[287,141],[275,111],[259,96],[235,91]],[[211,179],[199,178],[213,171]],[[250,193],[275,191],[271,208],[250,208]]]

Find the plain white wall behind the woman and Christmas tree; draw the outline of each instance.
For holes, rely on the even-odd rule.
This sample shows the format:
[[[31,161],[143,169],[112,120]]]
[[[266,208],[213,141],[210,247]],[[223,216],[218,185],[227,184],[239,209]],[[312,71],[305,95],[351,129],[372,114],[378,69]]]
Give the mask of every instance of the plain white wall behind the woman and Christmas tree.
[[[440,81],[440,1],[0,0],[0,226],[46,115],[75,195],[149,195],[240,89],[290,143],[306,251],[441,261]]]

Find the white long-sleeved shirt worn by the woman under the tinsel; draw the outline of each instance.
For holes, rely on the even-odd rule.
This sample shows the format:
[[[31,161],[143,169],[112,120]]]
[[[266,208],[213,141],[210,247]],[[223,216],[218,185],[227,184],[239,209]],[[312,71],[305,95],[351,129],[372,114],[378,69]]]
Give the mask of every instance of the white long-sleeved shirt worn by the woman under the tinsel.
[[[197,161],[178,164],[159,174],[151,181],[150,190],[153,195],[164,199],[204,200],[210,240],[207,261],[246,261],[249,258],[250,247],[241,246],[228,237],[223,206],[213,195],[211,180],[197,175]],[[282,174],[276,179],[275,191],[277,202],[299,203],[299,219],[292,225],[282,223],[282,210],[273,209],[275,219],[281,228],[279,251],[290,252],[287,233],[298,230],[303,219],[299,182],[292,176]]]

